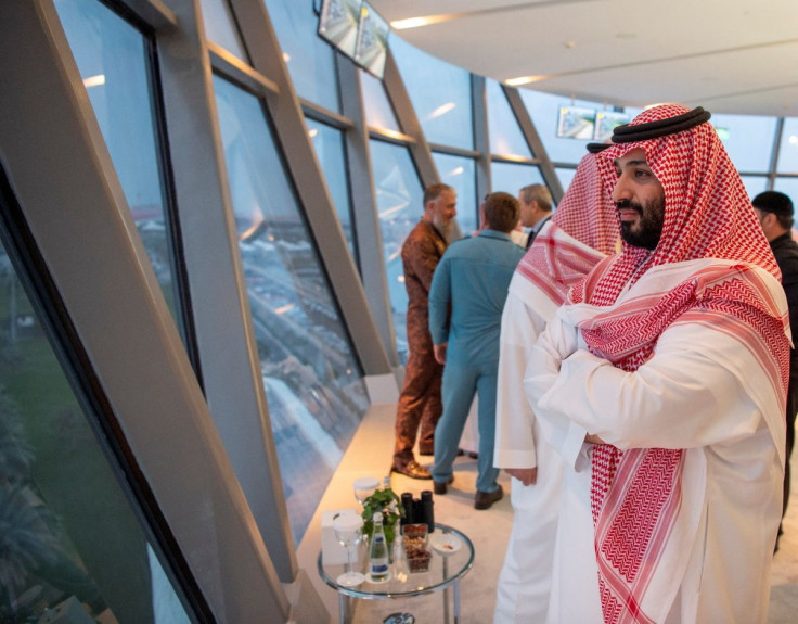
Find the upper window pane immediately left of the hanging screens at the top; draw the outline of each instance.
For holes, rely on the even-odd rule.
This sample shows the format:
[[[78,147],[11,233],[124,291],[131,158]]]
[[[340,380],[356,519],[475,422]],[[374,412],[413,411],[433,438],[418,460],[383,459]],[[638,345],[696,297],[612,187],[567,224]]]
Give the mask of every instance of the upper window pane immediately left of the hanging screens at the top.
[[[317,35],[319,16],[313,2],[265,1],[297,94],[340,113],[335,55],[333,47]]]

